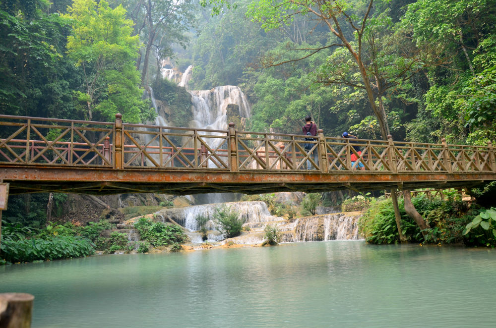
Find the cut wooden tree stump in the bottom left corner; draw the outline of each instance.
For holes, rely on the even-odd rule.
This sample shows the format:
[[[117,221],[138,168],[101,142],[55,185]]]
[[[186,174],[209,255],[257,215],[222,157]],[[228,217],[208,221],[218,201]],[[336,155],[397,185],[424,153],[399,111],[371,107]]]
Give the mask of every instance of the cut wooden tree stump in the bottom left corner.
[[[33,300],[26,293],[0,294],[0,328],[30,328]]]

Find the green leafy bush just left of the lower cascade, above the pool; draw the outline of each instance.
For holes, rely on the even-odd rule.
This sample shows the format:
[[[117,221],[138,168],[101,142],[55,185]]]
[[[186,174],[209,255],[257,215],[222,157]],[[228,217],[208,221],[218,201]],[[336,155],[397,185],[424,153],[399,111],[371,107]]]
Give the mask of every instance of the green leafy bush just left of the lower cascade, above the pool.
[[[186,235],[180,226],[176,224],[165,224],[163,222],[152,222],[141,218],[134,223],[142,240],[148,241],[152,246],[169,245],[173,243],[184,243]]]

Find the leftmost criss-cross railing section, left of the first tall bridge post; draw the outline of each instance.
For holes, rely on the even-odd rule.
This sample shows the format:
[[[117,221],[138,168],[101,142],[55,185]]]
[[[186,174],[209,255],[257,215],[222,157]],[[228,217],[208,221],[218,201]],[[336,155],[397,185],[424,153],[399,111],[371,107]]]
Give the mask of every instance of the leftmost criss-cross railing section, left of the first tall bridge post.
[[[0,163],[113,167],[114,131],[107,122],[0,115]]]

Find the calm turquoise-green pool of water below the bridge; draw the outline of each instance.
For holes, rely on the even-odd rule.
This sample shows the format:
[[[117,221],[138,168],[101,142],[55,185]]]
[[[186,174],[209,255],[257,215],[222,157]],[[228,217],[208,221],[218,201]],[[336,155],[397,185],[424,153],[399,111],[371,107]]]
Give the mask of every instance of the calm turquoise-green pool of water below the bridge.
[[[495,327],[496,253],[283,244],[0,267],[32,327]]]

